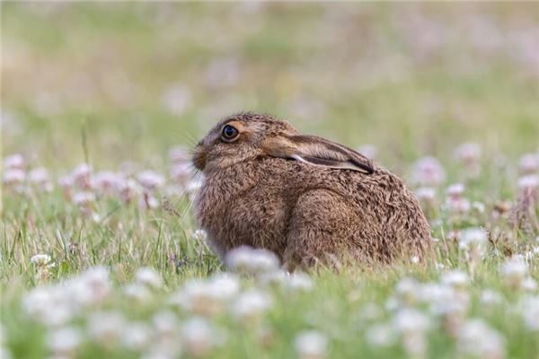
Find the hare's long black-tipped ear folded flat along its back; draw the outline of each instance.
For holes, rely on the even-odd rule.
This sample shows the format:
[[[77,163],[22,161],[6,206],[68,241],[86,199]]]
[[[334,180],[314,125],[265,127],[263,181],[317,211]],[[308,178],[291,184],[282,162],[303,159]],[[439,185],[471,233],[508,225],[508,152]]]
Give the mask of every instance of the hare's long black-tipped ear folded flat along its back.
[[[278,136],[265,146],[274,157],[291,158],[314,166],[371,174],[372,163],[360,153],[317,136]]]

